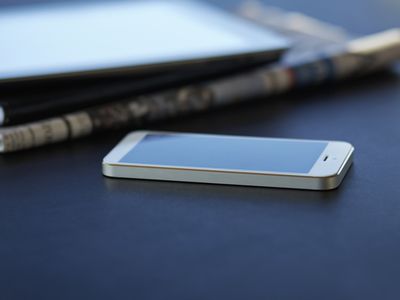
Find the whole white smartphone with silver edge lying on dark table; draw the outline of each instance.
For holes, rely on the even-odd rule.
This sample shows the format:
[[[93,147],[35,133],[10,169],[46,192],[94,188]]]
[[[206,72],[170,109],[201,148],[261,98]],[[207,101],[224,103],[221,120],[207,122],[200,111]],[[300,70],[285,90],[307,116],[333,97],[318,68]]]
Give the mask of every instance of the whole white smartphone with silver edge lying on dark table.
[[[329,190],[352,163],[346,142],[136,131],[103,160],[110,177]]]

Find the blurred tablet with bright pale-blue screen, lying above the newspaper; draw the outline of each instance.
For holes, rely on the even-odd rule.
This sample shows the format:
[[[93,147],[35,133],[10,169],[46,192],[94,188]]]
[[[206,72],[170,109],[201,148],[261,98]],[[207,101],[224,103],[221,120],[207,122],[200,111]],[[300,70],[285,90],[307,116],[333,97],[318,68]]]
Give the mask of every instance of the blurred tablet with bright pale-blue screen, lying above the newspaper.
[[[197,2],[36,4],[0,12],[0,82],[267,61],[287,47],[277,34]]]

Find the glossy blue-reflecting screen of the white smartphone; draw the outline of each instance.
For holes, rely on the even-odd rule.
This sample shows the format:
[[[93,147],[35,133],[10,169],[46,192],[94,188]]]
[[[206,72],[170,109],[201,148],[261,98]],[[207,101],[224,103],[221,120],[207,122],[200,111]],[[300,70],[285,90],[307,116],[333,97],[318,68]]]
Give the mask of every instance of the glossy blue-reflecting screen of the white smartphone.
[[[328,142],[190,134],[148,134],[121,163],[308,173]]]

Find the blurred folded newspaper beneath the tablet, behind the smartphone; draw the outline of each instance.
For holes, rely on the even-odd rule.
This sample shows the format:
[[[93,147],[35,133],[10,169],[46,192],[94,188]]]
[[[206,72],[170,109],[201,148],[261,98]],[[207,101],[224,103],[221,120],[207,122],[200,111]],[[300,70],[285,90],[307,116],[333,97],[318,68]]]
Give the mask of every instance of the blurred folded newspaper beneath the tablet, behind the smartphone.
[[[400,29],[354,39],[297,63],[124,99],[38,122],[0,129],[0,152],[29,149],[124,127],[206,111],[330,80],[356,77],[400,59]]]

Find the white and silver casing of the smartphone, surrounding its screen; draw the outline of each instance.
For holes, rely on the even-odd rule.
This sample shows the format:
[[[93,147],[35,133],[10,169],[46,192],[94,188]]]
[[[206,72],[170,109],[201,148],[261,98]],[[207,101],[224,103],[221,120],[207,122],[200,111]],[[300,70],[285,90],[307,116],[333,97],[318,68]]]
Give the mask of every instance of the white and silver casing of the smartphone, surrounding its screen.
[[[297,140],[304,142],[328,142],[325,150],[308,173],[261,172],[252,170],[187,168],[180,166],[128,164],[120,159],[148,134],[202,135],[224,138]],[[128,134],[103,159],[103,174],[108,177],[183,181],[245,186],[262,186],[310,190],[330,190],[339,186],[352,164],[354,147],[342,141],[324,141],[288,138],[264,138],[249,136],[180,133],[166,131],[134,131]],[[328,157],[328,159],[325,159]]]

